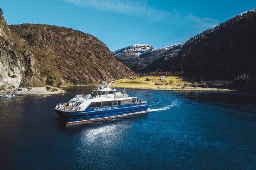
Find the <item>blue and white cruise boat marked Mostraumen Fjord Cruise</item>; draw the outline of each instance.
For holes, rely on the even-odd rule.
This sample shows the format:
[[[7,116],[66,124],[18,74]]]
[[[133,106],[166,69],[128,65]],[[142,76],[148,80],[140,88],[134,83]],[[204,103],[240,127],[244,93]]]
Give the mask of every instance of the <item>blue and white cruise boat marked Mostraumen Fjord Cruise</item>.
[[[125,89],[123,93],[117,92],[110,88],[112,82],[113,79],[110,83],[99,84],[91,94],[76,95],[67,103],[57,104],[55,112],[66,120],[66,125],[147,112],[146,101],[130,97]]]

